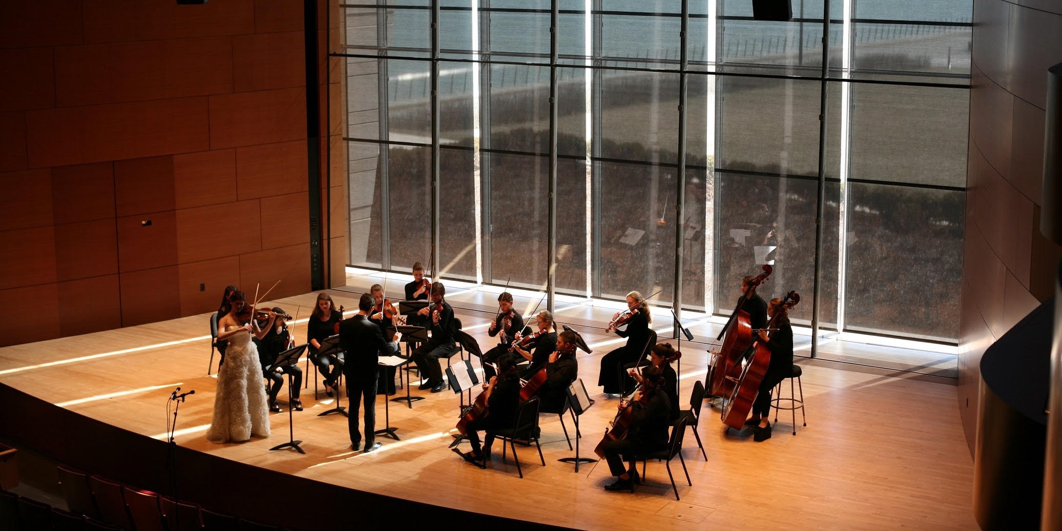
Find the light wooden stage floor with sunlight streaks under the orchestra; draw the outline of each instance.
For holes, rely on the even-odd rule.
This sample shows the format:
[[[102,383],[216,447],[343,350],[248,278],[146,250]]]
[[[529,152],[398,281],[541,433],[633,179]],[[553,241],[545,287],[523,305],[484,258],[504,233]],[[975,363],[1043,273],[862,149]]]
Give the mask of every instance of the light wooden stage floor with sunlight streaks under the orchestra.
[[[382,280],[348,275],[350,291]],[[406,279],[389,282],[397,290]],[[494,343],[486,323],[500,288],[450,289],[448,301],[464,327],[483,350]],[[331,291],[337,304],[357,306],[354,293]],[[530,295],[530,294],[527,294]],[[299,321],[309,314],[314,294],[269,302]],[[534,306],[537,297],[516,297],[516,308]],[[580,352],[580,377],[597,404],[581,419],[585,434],[581,453],[592,453],[615,412],[617,400],[597,387],[602,355],[618,346],[603,333],[603,322],[615,311],[609,303],[595,306],[559,304],[558,321],[576,327],[594,346]],[[664,330],[665,312],[653,327]],[[707,328],[713,328],[707,326]],[[718,326],[714,329],[718,330]],[[305,323],[295,325],[305,339]],[[215,445],[205,432],[213,409],[216,379],[206,375],[209,359],[207,315],[121,328],[74,338],[0,348],[0,381],[84,415],[157,439],[166,439],[165,404],[172,389],[195,390],[181,408],[177,443],[255,466],[285,472],[352,489],[439,506],[581,529],[976,529],[971,506],[973,463],[963,439],[956,406],[956,388],[906,377],[804,366],[807,427],[798,413],[798,434],[787,415],[774,436],[764,443],[751,433],[724,431],[718,410],[703,410],[699,428],[707,451],[701,457],[692,433],[683,456],[692,486],[682,467],[672,470],[682,501],[672,495],[663,463],[650,462],[646,483],[636,494],[609,493],[605,463],[583,465],[576,474],[561,425],[542,416],[543,453],[519,448],[524,479],[512,459],[502,463],[500,446],[493,466],[474,467],[447,449],[458,414],[458,395],[450,391],[412,394],[426,399],[390,404],[391,426],[401,441],[383,438],[383,447],[362,455],[349,449],[346,419],[316,416],[329,409],[324,396],[313,400],[313,382],[303,391],[305,411],[294,413],[295,439],[307,455],[270,451],[288,441],[288,412],[271,415],[271,438],[242,444]],[[662,332],[667,336],[669,332]],[[698,333],[695,330],[695,333]],[[706,335],[706,333],[705,333]],[[703,379],[703,345],[683,345],[681,397],[688,400],[692,383]],[[215,360],[217,363],[217,359]],[[806,360],[802,361],[806,363]],[[305,367],[305,364],[303,364]],[[900,374],[900,376],[909,376]],[[312,378],[312,369],[309,375]],[[414,386],[416,381],[414,380]],[[405,395],[405,390],[399,390]],[[287,389],[281,390],[286,407]],[[346,397],[342,398],[346,404]],[[383,401],[377,402],[378,428]],[[571,429],[568,419],[569,431]],[[467,449],[467,445],[462,447]],[[399,521],[401,517],[398,516]]]

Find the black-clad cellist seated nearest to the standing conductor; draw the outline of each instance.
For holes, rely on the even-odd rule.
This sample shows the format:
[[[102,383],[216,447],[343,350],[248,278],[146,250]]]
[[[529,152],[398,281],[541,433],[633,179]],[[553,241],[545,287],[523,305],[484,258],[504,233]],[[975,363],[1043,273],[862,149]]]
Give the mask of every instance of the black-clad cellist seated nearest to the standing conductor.
[[[453,448],[453,451],[464,458],[465,461],[479,466],[486,467],[486,460],[491,459],[491,445],[494,444],[494,433],[492,430],[511,428],[516,421],[516,412],[520,405],[520,380],[516,376],[516,362],[512,356],[502,356],[498,360],[498,371],[500,376],[492,376],[486,388],[487,413],[474,421],[469,421],[465,426],[468,442],[472,443],[472,451],[463,453]],[[480,448],[479,431],[485,431],[483,446]]]

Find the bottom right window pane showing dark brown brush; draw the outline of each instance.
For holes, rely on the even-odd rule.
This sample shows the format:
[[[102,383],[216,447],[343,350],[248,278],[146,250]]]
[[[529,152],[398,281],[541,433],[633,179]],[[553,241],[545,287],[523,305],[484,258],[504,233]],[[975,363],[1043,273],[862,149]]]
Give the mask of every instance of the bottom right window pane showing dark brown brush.
[[[965,193],[849,186],[845,328],[957,341]]]

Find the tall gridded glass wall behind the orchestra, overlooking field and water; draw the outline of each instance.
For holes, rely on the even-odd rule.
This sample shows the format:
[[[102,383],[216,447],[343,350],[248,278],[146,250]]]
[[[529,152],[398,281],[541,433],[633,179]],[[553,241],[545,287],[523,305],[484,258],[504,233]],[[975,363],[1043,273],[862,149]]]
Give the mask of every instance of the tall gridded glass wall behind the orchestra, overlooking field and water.
[[[972,2],[791,3],[349,1],[349,264],[954,343]]]

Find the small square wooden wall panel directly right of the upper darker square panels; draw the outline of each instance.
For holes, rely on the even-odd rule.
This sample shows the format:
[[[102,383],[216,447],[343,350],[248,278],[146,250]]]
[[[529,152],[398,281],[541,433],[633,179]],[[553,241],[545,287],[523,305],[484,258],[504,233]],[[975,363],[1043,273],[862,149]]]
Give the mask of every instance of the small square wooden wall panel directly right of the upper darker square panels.
[[[177,208],[236,201],[236,150],[173,155]]]

